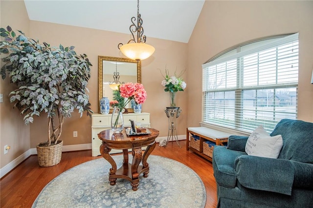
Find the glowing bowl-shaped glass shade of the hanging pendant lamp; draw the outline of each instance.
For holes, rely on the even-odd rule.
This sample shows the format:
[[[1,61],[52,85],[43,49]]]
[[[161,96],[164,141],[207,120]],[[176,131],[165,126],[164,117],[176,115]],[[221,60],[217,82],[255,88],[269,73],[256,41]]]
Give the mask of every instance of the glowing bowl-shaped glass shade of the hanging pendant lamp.
[[[127,43],[120,47],[122,53],[129,59],[136,61],[149,58],[154,52],[155,48],[146,43]]]

